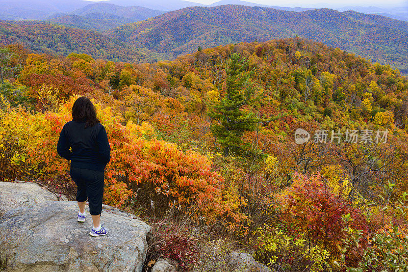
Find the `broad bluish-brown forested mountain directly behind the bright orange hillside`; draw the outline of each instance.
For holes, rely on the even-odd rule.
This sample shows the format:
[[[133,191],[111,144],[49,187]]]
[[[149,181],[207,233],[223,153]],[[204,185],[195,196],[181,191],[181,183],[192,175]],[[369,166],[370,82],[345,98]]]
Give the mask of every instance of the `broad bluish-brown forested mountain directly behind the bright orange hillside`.
[[[107,32],[135,47],[178,56],[227,43],[299,37],[340,47],[383,64],[407,69],[408,22],[379,15],[304,12],[226,5],[189,7]]]

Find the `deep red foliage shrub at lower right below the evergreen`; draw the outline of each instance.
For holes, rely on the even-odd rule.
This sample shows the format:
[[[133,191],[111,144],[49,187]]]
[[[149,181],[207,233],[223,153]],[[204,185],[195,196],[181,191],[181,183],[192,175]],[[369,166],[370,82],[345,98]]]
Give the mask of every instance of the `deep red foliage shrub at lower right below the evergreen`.
[[[292,187],[281,196],[282,223],[292,236],[307,233],[309,242],[318,244],[331,254],[338,254],[337,244],[345,237],[342,232],[342,215],[350,214],[351,226],[368,237],[368,222],[360,209],[351,202],[335,195],[323,184],[320,175],[295,174]],[[361,246],[366,246],[362,242]]]

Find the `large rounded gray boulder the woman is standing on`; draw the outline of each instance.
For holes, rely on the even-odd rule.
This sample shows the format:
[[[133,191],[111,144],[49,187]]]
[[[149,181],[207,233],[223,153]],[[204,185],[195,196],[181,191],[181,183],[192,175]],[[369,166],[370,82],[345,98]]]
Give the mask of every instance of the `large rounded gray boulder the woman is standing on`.
[[[104,206],[108,235],[92,237],[92,219],[77,222],[76,201],[48,201],[0,217],[0,269],[7,271],[137,271],[147,254],[150,227]]]

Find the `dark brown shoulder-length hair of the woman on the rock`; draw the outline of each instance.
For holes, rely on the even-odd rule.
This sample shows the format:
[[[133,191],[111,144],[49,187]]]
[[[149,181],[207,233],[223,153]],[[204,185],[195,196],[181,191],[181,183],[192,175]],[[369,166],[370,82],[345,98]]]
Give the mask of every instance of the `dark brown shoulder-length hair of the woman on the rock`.
[[[89,98],[82,96],[75,100],[72,106],[72,119],[77,122],[86,122],[85,127],[99,123],[96,118],[96,108]]]

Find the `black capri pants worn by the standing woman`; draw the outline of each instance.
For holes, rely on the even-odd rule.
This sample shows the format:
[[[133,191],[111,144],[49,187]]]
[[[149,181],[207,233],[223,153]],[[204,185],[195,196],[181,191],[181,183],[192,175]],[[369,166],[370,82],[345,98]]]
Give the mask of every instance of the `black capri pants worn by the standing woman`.
[[[105,172],[71,167],[69,173],[78,186],[77,201],[84,202],[88,199],[89,213],[99,215],[102,212]]]

